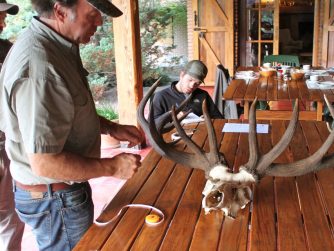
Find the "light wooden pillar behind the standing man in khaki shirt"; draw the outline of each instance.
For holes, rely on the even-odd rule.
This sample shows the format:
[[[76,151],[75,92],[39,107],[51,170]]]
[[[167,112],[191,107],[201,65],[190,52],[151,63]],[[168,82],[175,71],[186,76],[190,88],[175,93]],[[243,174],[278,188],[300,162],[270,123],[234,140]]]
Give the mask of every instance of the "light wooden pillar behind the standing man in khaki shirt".
[[[123,15],[113,19],[119,123],[137,126],[143,97],[138,0],[113,0]]]

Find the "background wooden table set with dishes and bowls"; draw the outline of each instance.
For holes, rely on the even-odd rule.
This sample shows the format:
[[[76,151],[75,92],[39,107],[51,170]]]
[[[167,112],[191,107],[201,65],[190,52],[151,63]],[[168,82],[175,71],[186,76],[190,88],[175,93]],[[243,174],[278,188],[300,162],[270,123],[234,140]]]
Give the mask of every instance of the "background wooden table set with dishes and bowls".
[[[238,70],[255,70],[258,67],[241,67]],[[289,101],[293,102],[297,98],[305,105],[305,110],[300,111],[300,120],[322,120],[324,94],[329,101],[334,101],[334,89],[320,90],[308,89],[306,80],[290,80],[286,82],[278,77],[260,77],[258,79],[234,79],[224,93],[225,100],[244,102],[244,118],[248,119],[248,112],[251,102],[255,97],[259,101]],[[312,102],[317,104],[316,109],[312,109]],[[290,119],[291,111],[282,110],[257,110],[258,119]]]

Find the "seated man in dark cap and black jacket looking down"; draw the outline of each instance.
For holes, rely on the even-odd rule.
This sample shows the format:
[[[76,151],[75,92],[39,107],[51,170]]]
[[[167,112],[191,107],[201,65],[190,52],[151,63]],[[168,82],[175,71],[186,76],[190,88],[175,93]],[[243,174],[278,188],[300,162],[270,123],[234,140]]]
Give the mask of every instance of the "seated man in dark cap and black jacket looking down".
[[[210,95],[198,88],[208,73],[207,67],[200,60],[190,61],[180,73],[180,80],[171,83],[170,87],[157,92],[153,98],[154,120],[157,125],[164,118],[164,114],[171,110],[172,106],[178,107],[190,94],[191,100],[184,111],[192,110],[197,116],[203,115],[202,102],[207,101],[211,118],[223,118]],[[180,112],[182,115],[182,112]],[[181,116],[178,115],[179,117]]]

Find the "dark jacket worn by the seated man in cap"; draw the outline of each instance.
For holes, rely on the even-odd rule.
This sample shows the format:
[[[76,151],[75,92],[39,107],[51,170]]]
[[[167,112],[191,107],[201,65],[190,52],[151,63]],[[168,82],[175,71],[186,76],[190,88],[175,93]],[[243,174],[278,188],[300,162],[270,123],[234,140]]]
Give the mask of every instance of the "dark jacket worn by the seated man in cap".
[[[185,94],[180,93],[176,90],[176,84],[177,82],[173,82],[168,88],[163,89],[154,95],[153,117],[156,124],[159,124],[159,118],[161,118],[161,116],[164,115],[166,112],[170,111],[173,105],[177,107],[186,99]],[[188,111],[189,109],[191,109],[192,112],[195,113],[197,116],[203,115],[202,103],[204,99],[206,99],[207,101],[208,111],[211,118],[222,119],[223,115],[219,112],[218,108],[213,103],[210,95],[200,88],[197,88],[192,93],[191,100],[183,109],[183,111]]]

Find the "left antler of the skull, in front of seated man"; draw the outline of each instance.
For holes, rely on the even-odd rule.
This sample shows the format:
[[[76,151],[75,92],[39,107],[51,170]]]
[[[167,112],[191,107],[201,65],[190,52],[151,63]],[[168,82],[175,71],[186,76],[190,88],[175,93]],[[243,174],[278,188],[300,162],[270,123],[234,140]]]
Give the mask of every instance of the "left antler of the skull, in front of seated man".
[[[222,154],[220,154],[218,151],[216,135],[213,129],[211,119],[207,115],[208,112],[206,103],[203,104],[203,110],[205,114],[205,123],[208,128],[208,135],[209,135],[208,137],[210,141],[209,153],[205,153],[195,142],[193,142],[186,135],[186,133],[182,129],[180,121],[176,118],[176,114],[182,109],[182,107],[178,107],[177,109],[173,107],[170,116],[173,119],[174,126],[176,127],[180,137],[184,140],[186,145],[191,149],[192,153],[178,151],[175,149],[175,147],[171,146],[170,144],[164,141],[162,134],[159,130],[159,128],[163,128],[164,125],[162,124],[159,126],[159,128],[157,128],[157,125],[155,124],[153,118],[152,103],[150,105],[149,120],[145,119],[144,116],[145,105],[158,85],[159,85],[159,80],[152,85],[148,93],[141,100],[137,111],[138,122],[143,128],[144,132],[146,133],[148,139],[150,140],[152,147],[162,156],[165,156],[177,163],[192,168],[202,169],[206,172],[209,171],[212,168],[212,166],[215,166],[217,164],[222,164],[223,157]],[[170,120],[170,117],[166,116],[166,118],[164,118],[164,121],[167,122],[168,120]]]

